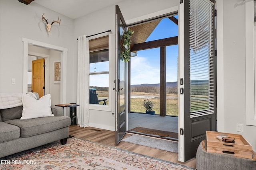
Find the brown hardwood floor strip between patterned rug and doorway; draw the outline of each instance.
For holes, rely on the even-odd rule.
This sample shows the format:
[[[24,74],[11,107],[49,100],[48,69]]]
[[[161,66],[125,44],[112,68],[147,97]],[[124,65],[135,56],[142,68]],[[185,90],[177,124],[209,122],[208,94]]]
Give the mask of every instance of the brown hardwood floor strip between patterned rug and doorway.
[[[167,160],[170,162],[175,162],[179,164],[184,164],[186,166],[196,168],[196,159],[192,158],[186,162],[178,161],[178,154],[174,152],[168,152],[160,149],[145,147],[142,145],[136,145],[128,142],[121,141],[118,145],[115,144],[115,132],[108,131],[104,129],[98,129],[94,127],[78,127],[77,125],[71,125],[69,127],[69,134],[81,139],[87,139],[89,141],[94,141],[102,143],[104,145],[129,150],[139,154],[144,154],[147,156],[152,156],[154,158],[159,158],[162,160]],[[131,136],[132,134],[125,134],[124,138]]]

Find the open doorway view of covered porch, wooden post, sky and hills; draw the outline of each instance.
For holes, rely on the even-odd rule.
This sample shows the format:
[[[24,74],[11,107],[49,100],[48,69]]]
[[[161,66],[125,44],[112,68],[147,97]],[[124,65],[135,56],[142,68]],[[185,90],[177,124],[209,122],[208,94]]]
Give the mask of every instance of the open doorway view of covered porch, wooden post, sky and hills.
[[[178,14],[136,25],[128,67],[128,132],[178,141]],[[154,103],[146,114],[144,100]]]

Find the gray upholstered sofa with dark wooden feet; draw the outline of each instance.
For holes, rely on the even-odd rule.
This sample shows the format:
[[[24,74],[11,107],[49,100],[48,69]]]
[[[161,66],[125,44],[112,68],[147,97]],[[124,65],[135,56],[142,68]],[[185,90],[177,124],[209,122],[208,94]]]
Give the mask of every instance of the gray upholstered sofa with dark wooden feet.
[[[70,117],[51,107],[54,116],[26,120],[20,120],[23,106],[0,109],[0,158],[58,140],[66,144]]]

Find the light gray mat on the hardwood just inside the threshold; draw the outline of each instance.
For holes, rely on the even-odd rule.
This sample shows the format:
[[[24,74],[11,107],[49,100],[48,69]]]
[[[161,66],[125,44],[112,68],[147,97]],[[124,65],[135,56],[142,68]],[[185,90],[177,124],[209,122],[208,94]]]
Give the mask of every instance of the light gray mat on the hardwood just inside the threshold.
[[[142,135],[132,135],[130,137],[122,139],[122,141],[175,153],[178,153],[179,149],[178,142],[176,141],[147,137]]]

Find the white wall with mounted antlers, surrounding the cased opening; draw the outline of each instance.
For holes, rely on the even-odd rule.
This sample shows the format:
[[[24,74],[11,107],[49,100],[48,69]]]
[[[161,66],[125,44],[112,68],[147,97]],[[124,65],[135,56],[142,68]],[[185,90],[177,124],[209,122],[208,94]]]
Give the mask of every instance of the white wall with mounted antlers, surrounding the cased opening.
[[[42,14],[54,20],[58,16],[60,25],[52,25],[50,35],[45,29]],[[0,0],[0,92],[22,93],[23,91],[23,43],[22,37],[68,49],[67,89],[74,84],[74,26],[73,20],[36,3],[25,5],[18,0]],[[11,84],[16,78],[16,84]],[[74,101],[73,92],[67,91],[67,102]]]

